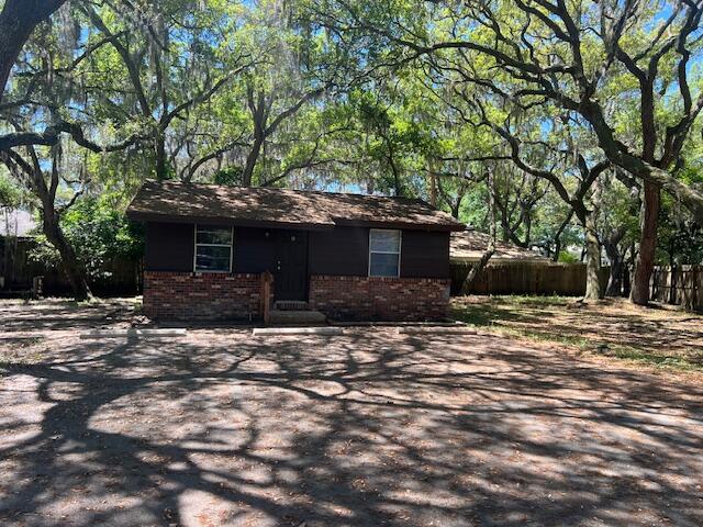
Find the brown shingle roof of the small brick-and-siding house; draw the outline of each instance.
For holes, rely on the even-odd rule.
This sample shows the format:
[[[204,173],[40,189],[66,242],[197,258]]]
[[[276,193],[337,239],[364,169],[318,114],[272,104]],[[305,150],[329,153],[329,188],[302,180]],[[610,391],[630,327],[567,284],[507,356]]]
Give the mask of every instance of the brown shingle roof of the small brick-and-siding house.
[[[464,229],[461,223],[422,200],[170,181],[144,183],[127,214],[143,221],[212,221],[282,227],[378,225]]]

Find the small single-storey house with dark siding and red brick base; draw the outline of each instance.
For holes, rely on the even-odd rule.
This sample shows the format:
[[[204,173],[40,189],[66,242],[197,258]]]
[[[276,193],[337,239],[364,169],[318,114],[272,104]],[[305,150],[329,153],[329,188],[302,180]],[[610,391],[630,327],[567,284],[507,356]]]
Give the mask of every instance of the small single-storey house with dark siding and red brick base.
[[[268,271],[274,309],[438,319],[465,228],[420,200],[179,182],[146,182],[127,214],[146,224],[152,318],[260,317]]]

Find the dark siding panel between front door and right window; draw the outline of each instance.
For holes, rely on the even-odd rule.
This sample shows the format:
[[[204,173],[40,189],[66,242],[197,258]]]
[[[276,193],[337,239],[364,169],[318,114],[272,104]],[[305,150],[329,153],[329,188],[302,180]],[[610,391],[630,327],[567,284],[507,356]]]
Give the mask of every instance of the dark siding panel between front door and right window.
[[[369,229],[335,227],[311,232],[310,274],[366,277],[369,265]]]

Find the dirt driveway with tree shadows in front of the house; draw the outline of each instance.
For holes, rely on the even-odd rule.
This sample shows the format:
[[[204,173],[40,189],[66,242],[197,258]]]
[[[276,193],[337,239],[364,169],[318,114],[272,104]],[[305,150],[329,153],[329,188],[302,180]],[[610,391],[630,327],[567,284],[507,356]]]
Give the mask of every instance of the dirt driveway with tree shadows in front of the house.
[[[392,328],[91,340],[99,311],[0,310],[2,525],[703,524],[694,377]]]

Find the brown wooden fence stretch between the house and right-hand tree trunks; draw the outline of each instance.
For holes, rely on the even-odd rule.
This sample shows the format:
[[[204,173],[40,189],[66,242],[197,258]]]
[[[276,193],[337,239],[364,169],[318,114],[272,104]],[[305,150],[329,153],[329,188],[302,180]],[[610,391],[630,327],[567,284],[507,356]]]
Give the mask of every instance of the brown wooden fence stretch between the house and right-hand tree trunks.
[[[489,264],[469,290],[464,281],[472,264],[451,262],[451,294],[558,294],[585,293],[584,264],[511,262]],[[607,285],[609,268],[601,269],[601,283]]]

